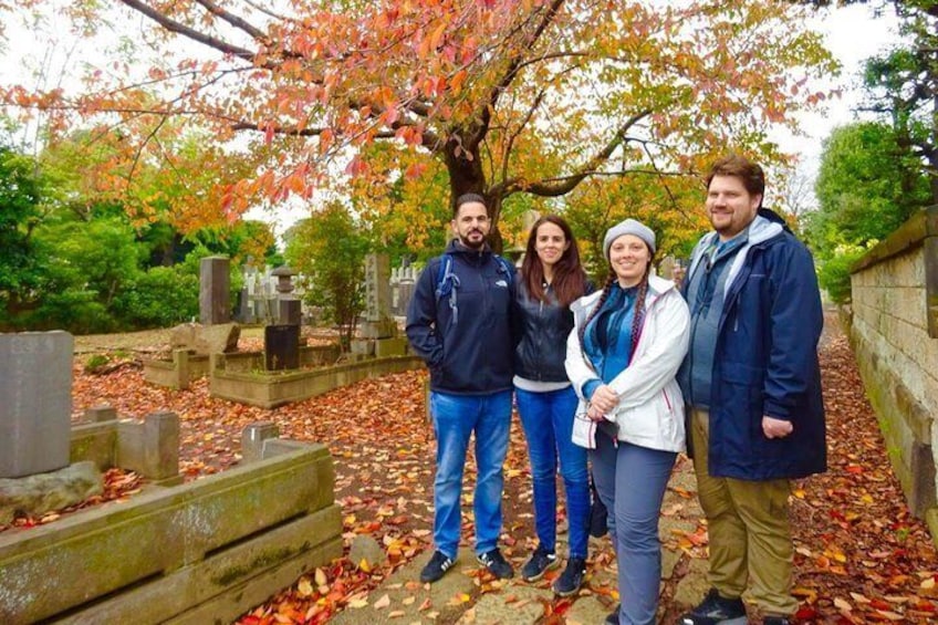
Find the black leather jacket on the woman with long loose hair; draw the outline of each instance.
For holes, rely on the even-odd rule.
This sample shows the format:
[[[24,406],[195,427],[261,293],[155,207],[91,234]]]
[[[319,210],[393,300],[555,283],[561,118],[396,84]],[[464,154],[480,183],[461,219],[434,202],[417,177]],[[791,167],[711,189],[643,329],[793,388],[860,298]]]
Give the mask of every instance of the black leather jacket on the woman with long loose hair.
[[[545,293],[548,302],[532,300],[519,274],[514,302],[521,342],[514,348],[514,374],[536,382],[567,382],[563,361],[573,313],[557,304],[550,287]]]

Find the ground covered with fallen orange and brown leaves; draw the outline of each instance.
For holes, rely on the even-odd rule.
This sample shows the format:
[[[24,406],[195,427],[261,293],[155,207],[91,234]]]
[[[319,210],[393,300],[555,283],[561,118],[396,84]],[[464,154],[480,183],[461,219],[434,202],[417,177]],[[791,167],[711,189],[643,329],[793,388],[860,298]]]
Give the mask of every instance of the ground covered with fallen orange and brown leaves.
[[[129,347],[132,352],[156,348],[140,341]],[[240,431],[252,421],[274,421],[284,437],[324,442],[335,459],[336,500],[343,510],[346,544],[356,534],[371,534],[389,555],[389,564],[383,566],[359,566],[343,559],[310,572],[242,616],[241,623],[324,623],[336,611],[361,605],[364,593],[397,566],[426,556],[423,554],[431,545],[434,441],[424,408],[423,372],[366,381],[265,410],[211,398],[206,381],[184,392],[150,386],[133,362],[106,375],[86,374],[83,363],[93,351],[83,350],[76,357],[76,418],[86,407],[101,404],[135,417],[175,410],[181,419],[181,470],[189,480],[237,463]],[[936,550],[924,523],[911,518],[905,506],[843,335],[830,334],[822,365],[830,470],[799,482],[792,500],[795,592],[802,600],[799,616],[810,623],[938,622]],[[465,503],[471,502],[472,467],[471,460],[467,462]],[[133,473],[115,472],[108,480],[105,499],[129,497],[139,488]],[[520,566],[533,546],[533,523],[530,472],[517,418],[506,493],[504,551]],[[51,522],[58,514],[19,519],[15,524]],[[668,584],[677,583],[689,560],[706,556],[706,524],[700,521],[698,532],[681,541],[684,555],[675,580],[664,590],[666,601],[674,596]],[[463,537],[469,537],[471,521],[466,523]],[[603,544],[591,556],[594,569],[612,566],[607,541]],[[481,580],[479,593],[486,590]],[[607,585],[593,591],[611,593]],[[468,596],[467,604],[477,596]],[[544,623],[562,623],[569,604],[570,600],[564,600],[548,606]],[[679,608],[668,607],[666,619],[671,622]]]

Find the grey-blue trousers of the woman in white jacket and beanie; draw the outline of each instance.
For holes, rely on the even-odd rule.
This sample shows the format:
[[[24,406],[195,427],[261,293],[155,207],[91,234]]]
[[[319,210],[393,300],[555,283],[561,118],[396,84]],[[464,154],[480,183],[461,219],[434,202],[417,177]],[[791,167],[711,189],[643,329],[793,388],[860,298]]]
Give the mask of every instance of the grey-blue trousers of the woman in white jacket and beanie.
[[[600,499],[609,510],[609,534],[618,560],[623,624],[655,623],[661,581],[658,517],[677,454],[596,436],[590,451]]]

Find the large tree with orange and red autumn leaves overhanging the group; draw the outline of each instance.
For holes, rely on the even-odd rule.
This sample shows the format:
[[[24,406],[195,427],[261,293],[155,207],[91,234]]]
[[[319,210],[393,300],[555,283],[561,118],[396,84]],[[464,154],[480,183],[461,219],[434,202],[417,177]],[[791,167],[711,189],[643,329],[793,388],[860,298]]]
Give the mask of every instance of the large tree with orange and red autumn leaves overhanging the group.
[[[496,225],[513,195],[559,198],[594,177],[668,186],[663,174],[699,171],[728,148],[771,165],[785,156],[769,128],[793,125],[792,113],[825,96],[812,79],[836,70],[803,25],[809,9],[774,1],[122,4],[17,3],[67,12],[108,60],[80,92],[12,86],[0,97],[42,111],[53,133],[119,119],[114,145],[127,165],[114,183],[128,188],[132,164],[163,159],[187,129],[207,132],[225,149],[189,169],[211,185],[179,204],[194,219],[311,198],[340,173],[378,176],[362,149],[378,140],[423,157],[379,181],[420,177],[432,159],[449,201],[481,192]],[[241,131],[248,145],[231,143]],[[232,184],[213,171],[236,149],[253,169]]]

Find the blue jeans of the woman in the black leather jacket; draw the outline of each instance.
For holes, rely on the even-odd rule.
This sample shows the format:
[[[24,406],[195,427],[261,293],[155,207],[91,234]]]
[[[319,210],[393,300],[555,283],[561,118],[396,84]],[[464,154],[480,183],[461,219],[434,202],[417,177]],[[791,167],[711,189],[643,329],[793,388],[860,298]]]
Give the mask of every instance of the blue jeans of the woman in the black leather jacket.
[[[517,388],[514,394],[531,459],[538,540],[548,551],[556,549],[556,470],[560,460],[570,522],[570,556],[585,559],[590,540],[586,449],[577,447],[570,439],[576,412],[576,393],[572,387],[566,387],[548,393]]]

